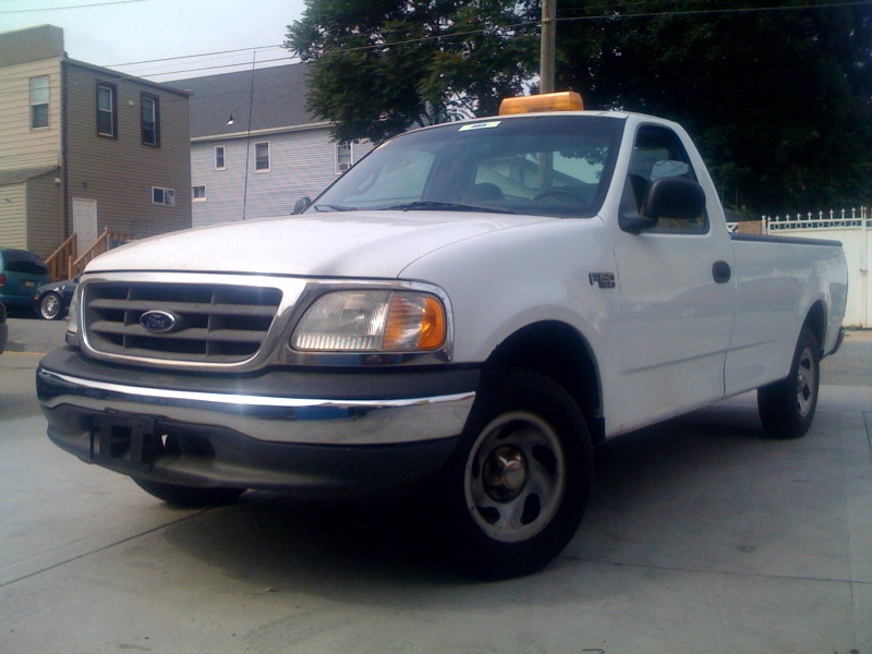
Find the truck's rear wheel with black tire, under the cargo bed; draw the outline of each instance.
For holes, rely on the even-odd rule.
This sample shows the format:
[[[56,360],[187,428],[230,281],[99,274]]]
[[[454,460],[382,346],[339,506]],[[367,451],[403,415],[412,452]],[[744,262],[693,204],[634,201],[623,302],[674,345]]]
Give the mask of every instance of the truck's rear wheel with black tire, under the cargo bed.
[[[760,420],[773,438],[804,436],[814,420],[821,382],[821,347],[809,327],[799,332],[790,374],[756,391]]]

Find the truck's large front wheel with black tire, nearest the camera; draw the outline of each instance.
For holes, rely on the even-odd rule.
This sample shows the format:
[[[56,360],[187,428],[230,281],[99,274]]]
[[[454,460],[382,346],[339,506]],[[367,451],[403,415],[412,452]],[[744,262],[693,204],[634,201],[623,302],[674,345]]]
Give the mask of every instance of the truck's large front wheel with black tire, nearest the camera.
[[[443,477],[458,562],[491,580],[541,569],[578,530],[591,477],[588,427],[562,387],[521,370],[486,375]]]

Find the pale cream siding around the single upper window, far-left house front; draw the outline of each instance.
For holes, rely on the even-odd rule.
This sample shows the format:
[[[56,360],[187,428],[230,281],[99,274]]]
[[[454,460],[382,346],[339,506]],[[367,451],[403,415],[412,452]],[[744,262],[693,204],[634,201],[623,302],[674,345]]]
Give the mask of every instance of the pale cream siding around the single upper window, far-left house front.
[[[49,76],[48,128],[31,129],[31,78]],[[0,169],[58,166],[61,149],[60,59],[0,66]]]

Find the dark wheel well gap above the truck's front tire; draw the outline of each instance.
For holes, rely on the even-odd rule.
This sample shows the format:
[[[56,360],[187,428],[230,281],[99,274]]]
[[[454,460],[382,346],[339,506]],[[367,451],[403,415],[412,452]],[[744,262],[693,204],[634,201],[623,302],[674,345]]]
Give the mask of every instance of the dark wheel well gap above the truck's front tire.
[[[592,443],[605,438],[600,370],[590,343],[573,327],[548,320],[519,329],[485,362],[486,370],[496,366],[520,367],[550,377],[581,409]]]

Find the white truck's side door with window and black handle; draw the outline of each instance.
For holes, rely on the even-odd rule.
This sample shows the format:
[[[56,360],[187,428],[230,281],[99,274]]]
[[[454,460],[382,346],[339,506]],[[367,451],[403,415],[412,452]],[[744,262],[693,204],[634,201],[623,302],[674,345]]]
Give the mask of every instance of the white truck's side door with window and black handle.
[[[638,211],[650,185],[667,177],[703,175],[675,131],[640,125],[623,210]],[[735,314],[732,247],[725,226],[710,222],[715,216],[723,221],[723,213],[707,195],[707,209],[695,220],[661,219],[635,234],[617,230],[623,431],[723,397]]]

